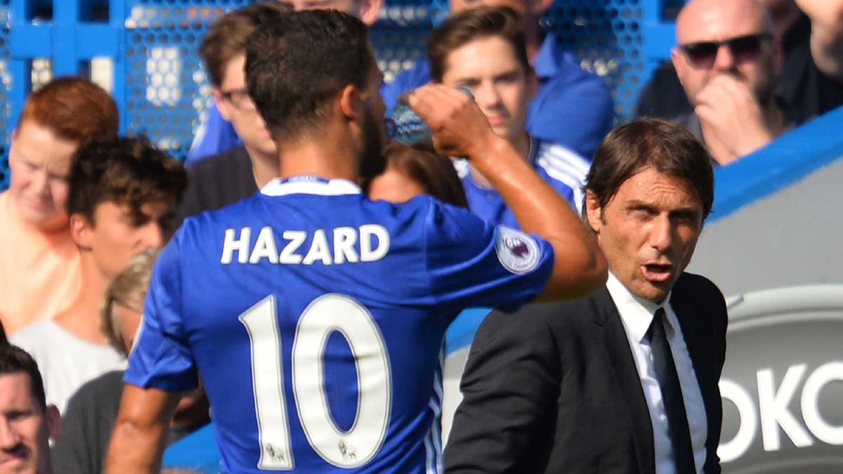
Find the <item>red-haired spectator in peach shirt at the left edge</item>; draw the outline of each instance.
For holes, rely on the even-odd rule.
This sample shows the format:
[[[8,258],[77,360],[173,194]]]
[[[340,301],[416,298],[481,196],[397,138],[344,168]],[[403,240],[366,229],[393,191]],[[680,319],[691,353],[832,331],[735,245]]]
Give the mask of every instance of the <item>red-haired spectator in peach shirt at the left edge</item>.
[[[79,252],[65,210],[71,156],[118,125],[114,100],[83,78],[53,79],[26,99],[0,193],[0,322],[9,336],[76,301]]]

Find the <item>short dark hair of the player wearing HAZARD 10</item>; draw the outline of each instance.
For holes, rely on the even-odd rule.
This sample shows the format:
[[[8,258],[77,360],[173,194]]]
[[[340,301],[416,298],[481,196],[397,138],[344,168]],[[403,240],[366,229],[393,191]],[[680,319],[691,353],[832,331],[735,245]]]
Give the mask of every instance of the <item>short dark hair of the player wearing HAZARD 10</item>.
[[[366,25],[336,10],[282,13],[246,42],[249,95],[277,142],[319,126],[330,100],[365,89],[375,66]]]

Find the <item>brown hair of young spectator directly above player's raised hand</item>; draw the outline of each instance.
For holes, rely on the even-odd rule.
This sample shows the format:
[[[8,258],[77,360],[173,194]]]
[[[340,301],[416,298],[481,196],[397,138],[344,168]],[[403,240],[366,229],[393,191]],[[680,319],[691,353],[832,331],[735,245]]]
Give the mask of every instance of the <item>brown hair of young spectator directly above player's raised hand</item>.
[[[451,52],[471,41],[488,37],[506,40],[513,47],[524,73],[530,70],[521,15],[509,7],[477,7],[455,14],[431,32],[427,39],[427,59],[433,80],[442,82]],[[489,58],[489,61],[494,60]]]

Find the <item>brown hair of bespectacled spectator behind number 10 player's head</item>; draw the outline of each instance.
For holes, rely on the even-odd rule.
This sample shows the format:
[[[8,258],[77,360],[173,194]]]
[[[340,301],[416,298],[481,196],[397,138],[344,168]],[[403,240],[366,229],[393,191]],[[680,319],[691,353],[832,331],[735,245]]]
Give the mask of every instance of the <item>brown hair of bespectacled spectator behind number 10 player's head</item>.
[[[223,83],[226,65],[246,52],[246,40],[258,25],[274,21],[279,13],[290,11],[293,7],[288,3],[267,0],[238,8],[217,19],[199,46],[199,55],[211,83],[217,87]]]

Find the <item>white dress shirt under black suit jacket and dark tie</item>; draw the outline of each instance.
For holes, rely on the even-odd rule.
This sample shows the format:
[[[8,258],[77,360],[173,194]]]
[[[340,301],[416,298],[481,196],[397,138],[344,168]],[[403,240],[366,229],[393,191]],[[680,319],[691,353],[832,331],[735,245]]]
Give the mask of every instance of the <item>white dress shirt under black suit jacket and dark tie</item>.
[[[635,358],[638,377],[641,379],[644,397],[647,399],[647,407],[650,409],[653,446],[656,451],[656,474],[676,474],[673,450],[668,437],[668,417],[664,412],[662,391],[658,387],[656,369],[652,363],[650,342],[647,341],[646,337],[652,316],[658,308],[664,308],[665,320],[667,320],[664,331],[668,337],[670,352],[674,355],[679,385],[682,387],[685,413],[688,415],[691,448],[694,450],[694,466],[696,472],[701,473],[702,466],[706,463],[706,436],[708,434],[706,407],[702,402],[700,385],[696,381],[694,366],[690,361],[688,347],[685,346],[685,338],[682,337],[679,320],[676,319],[676,314],[669,304],[670,294],[662,304],[652,303],[647,299],[631,294],[630,290],[611,273],[609,273],[606,288],[609,289],[609,294],[620,313],[620,320],[623,321],[626,339],[630,342],[632,357]]]

